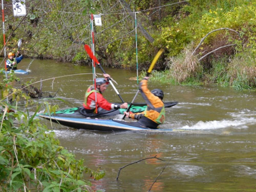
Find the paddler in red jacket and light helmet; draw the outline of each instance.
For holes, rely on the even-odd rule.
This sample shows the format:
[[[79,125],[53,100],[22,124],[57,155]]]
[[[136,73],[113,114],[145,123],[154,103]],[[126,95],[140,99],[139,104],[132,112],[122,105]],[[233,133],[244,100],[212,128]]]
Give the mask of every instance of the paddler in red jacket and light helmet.
[[[103,74],[104,78],[96,78],[96,97],[97,97],[97,110],[98,113],[102,113],[104,110],[110,111],[113,109],[127,109],[128,104],[115,104],[108,102],[102,95],[106,90],[106,87],[109,84],[108,78],[109,74]],[[96,113],[96,102],[95,102],[95,89],[94,85],[90,86],[86,95],[84,96],[83,107],[86,110],[86,113]]]

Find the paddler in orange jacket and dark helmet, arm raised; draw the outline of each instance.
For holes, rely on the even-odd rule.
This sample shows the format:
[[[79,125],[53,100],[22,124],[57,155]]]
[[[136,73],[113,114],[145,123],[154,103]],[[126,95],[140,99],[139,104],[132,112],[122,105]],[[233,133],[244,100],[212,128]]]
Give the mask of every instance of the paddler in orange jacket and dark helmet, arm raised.
[[[140,93],[147,104],[146,110],[141,113],[124,112],[124,114],[126,117],[137,119],[141,126],[156,129],[165,119],[165,109],[162,101],[163,91],[154,89],[150,92],[147,88],[148,78],[149,77],[144,77],[139,84]]]

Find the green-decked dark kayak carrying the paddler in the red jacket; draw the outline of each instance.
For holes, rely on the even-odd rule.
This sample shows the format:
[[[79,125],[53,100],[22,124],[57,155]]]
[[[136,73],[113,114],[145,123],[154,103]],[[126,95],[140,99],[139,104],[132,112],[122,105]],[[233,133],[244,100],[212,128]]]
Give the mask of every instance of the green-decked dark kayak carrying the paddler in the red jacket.
[[[177,101],[164,102],[164,107],[170,108],[176,105],[177,103],[178,103]],[[145,109],[146,109],[146,103],[133,103],[133,106],[131,107],[130,111],[132,113],[140,113],[145,111]],[[103,116],[115,116],[115,115],[123,114],[123,112],[125,111],[126,111],[125,109],[117,109],[117,110],[110,110],[110,111],[102,110],[97,114],[88,114],[86,113],[86,110],[83,108],[83,106],[80,106],[77,108],[70,108],[70,109],[56,111],[55,113],[52,113],[51,116],[75,117],[75,118],[84,118],[84,117],[98,118]],[[37,116],[40,116],[40,115],[48,115],[48,113],[39,114]]]

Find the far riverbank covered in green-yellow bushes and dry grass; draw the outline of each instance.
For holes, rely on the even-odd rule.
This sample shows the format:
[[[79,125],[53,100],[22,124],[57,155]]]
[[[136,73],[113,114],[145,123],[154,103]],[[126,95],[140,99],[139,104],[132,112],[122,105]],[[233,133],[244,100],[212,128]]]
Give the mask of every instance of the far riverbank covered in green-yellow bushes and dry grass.
[[[90,8],[75,0],[27,2],[35,9],[25,20],[7,10],[7,52],[16,52],[22,38],[20,51],[27,57],[91,65],[83,45],[92,42],[90,13],[101,13],[102,26],[93,27],[95,55],[104,67],[135,69],[138,61],[141,71],[164,48],[155,69],[170,83],[256,89],[255,2],[195,0],[162,2],[158,7],[151,1],[129,5],[102,1],[104,9],[86,2],[91,3]],[[3,46],[3,40],[0,44]]]

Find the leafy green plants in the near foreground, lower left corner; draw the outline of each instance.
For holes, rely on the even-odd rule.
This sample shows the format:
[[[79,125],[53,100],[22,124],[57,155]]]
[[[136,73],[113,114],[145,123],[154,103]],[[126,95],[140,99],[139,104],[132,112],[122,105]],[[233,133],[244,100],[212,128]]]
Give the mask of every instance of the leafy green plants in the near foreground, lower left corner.
[[[2,88],[6,89],[3,83]],[[14,90],[11,83],[9,90]],[[6,105],[3,101],[0,104]],[[51,108],[48,102],[45,104],[50,113],[57,109],[57,106]],[[8,108],[14,110],[15,106],[8,104]],[[84,166],[82,160],[76,160],[73,154],[59,146],[54,132],[35,119],[39,110],[40,106],[32,116],[28,111],[19,110],[5,115],[0,132],[1,190],[23,191],[26,187],[28,191],[88,191],[90,182],[83,181],[83,174],[101,179],[102,172]]]

